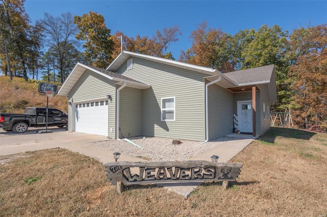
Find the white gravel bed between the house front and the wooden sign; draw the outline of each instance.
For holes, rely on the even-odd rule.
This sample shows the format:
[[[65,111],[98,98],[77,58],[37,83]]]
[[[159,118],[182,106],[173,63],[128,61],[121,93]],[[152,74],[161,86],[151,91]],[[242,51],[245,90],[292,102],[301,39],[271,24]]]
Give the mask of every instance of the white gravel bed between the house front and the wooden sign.
[[[172,144],[173,139],[157,137],[135,137],[130,140],[141,146],[142,149],[123,140],[107,140],[90,143],[90,145],[152,161],[175,161],[188,160],[190,157],[231,140],[231,138],[222,137],[201,145],[198,145],[201,142],[188,140],[180,140],[181,144],[174,145]]]

